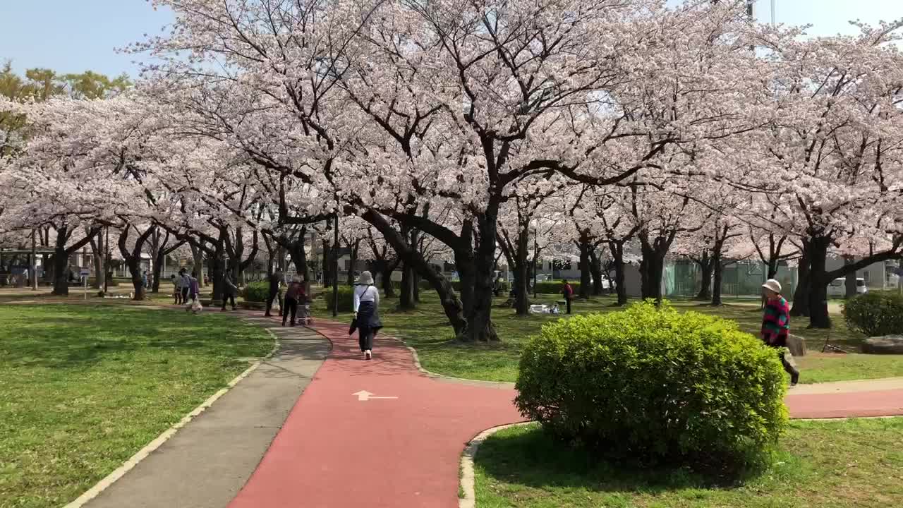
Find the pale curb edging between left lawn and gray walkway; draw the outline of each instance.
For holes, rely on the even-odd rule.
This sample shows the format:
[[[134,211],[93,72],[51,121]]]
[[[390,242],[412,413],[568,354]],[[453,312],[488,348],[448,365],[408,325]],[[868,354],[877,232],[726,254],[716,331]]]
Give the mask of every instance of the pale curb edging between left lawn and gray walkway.
[[[242,319],[245,320],[244,318]],[[163,443],[168,441],[171,437],[175,436],[176,432],[178,432],[180,428],[188,425],[191,420],[197,418],[201,413],[206,411],[210,406],[213,405],[214,402],[219,400],[220,397],[226,395],[229,390],[235,388],[239,381],[247,378],[247,376],[249,376],[251,372],[256,371],[257,368],[260,367],[260,365],[262,365],[266,360],[269,360],[271,357],[273,357],[276,351],[279,350],[279,337],[276,336],[276,334],[274,334],[273,331],[268,328],[264,328],[264,330],[267,334],[270,335],[270,337],[273,338],[274,342],[273,348],[269,353],[266,353],[264,357],[252,363],[247,369],[245,369],[244,372],[241,372],[234,379],[232,379],[232,381],[228,381],[225,388],[221,388],[213,395],[210,395],[207,400],[204,400],[200,403],[200,406],[192,409],[190,413],[182,417],[182,419],[173,424],[172,427],[163,430],[163,433],[161,433],[157,437],[154,437],[153,441],[144,445],[143,448],[135,452],[135,455],[129,457],[128,460],[126,460],[126,462],[122,464],[122,466],[116,467],[116,469],[114,469],[112,473],[101,478],[97,484],[94,484],[94,486],[79,495],[79,497],[77,497],[74,501],[71,501],[70,503],[64,505],[63,508],[81,508],[89,501],[97,497],[100,493],[107,490],[107,488],[109,488],[112,484],[115,484],[119,478],[122,478],[126,475],[126,473],[135,468],[135,466],[137,466],[142,460],[144,460],[144,458],[150,456],[157,448],[162,447]]]

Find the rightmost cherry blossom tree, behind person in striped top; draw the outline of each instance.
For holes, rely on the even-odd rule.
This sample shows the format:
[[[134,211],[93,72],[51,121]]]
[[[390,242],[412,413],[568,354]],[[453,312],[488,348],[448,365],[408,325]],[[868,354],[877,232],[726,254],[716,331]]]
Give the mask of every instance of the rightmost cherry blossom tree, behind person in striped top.
[[[896,258],[903,249],[895,190],[903,168],[903,53],[894,44],[900,26],[860,25],[855,37],[800,41],[777,31],[762,37],[775,61],[775,121],[750,133],[747,145],[753,151],[763,147],[749,155],[767,170],[742,181],[786,196],[782,204],[792,208],[787,215],[798,218],[800,288],[794,307],[815,327],[831,325],[826,287],[833,278]],[[829,250],[852,239],[883,248],[827,270]]]

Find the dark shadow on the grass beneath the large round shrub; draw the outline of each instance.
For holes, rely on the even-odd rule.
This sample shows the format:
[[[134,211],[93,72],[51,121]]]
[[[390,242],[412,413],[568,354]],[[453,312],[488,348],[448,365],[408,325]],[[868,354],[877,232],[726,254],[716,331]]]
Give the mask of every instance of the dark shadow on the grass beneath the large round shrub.
[[[489,437],[479,447],[476,463],[498,482],[568,491],[659,494],[737,486],[761,475],[761,470],[700,473],[688,467],[639,468],[600,460],[581,448],[564,445],[535,425],[510,428]]]

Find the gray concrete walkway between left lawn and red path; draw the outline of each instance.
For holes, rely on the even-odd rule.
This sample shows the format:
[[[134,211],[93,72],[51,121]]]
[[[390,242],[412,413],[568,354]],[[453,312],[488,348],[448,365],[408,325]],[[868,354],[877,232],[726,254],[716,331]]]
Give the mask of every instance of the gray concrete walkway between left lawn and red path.
[[[279,337],[275,355],[85,506],[224,508],[232,501],[330,351],[307,328],[246,319]]]

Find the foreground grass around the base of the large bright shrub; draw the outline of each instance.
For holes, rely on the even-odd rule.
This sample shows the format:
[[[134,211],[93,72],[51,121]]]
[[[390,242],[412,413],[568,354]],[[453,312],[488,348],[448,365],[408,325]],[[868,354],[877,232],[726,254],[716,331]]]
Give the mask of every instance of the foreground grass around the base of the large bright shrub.
[[[794,421],[772,466],[729,486],[599,463],[537,426],[508,428],[479,447],[476,492],[479,508],[901,506],[903,418]]]

